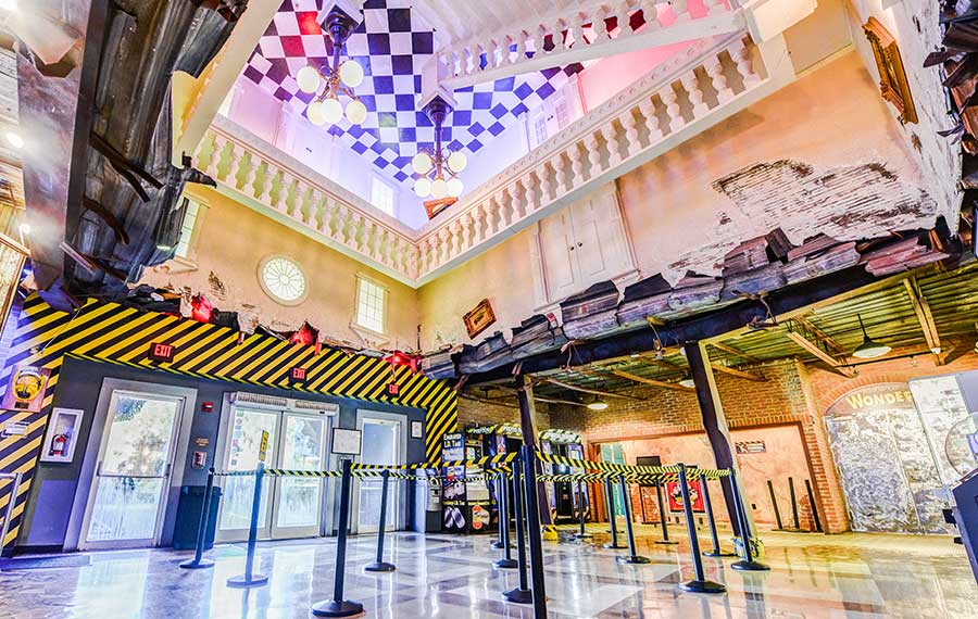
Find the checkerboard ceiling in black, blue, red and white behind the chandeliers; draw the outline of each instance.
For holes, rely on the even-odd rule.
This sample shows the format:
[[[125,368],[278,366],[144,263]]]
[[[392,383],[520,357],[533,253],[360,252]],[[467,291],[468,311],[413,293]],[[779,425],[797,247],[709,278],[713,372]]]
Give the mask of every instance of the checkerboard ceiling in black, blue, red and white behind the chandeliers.
[[[306,64],[325,65],[333,53],[329,37],[317,23],[322,4],[323,0],[285,0],[244,68],[249,79],[297,109],[304,110],[313,99],[299,89],[297,73]],[[363,22],[344,52],[366,75],[355,91],[367,117],[360,126],[343,118],[324,130],[410,187],[411,159],[435,142],[435,128],[415,103],[422,67],[435,52],[435,37],[409,4],[408,0],[364,4]],[[579,64],[552,68],[456,90],[457,104],[446,121],[442,140],[452,150],[478,152],[580,68]]]

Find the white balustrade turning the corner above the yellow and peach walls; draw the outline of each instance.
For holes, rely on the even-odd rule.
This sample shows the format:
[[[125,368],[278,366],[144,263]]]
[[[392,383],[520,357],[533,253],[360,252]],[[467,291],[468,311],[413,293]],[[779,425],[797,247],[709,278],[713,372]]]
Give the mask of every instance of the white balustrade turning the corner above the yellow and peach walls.
[[[616,5],[619,18],[624,5]],[[654,4],[632,1],[628,7],[635,11]],[[574,35],[576,23],[574,15],[568,23],[562,23],[572,30],[566,41],[572,48],[582,40]],[[497,51],[489,52],[489,63],[504,65],[512,61],[512,54],[507,56],[506,51],[498,50],[509,50],[513,42],[518,62],[526,35],[498,40],[499,45],[492,48]],[[539,34],[535,34],[530,42],[537,50],[538,40]],[[456,52],[444,55],[450,56],[456,59],[456,67],[461,66],[457,63],[472,66],[471,61],[479,62],[478,56],[465,58]],[[752,49],[739,36],[690,45],[475,188],[419,230],[380,213],[224,118],[214,122],[210,137],[201,142],[198,165],[244,197],[243,202],[252,207],[275,212],[297,229],[309,230],[339,251],[417,286],[576,200],[598,184],[656,156],[667,148],[663,146],[666,140],[666,144],[677,143],[673,140],[677,131],[685,131],[680,141],[688,139],[698,132],[691,125],[714,113],[736,111],[725,110],[724,105],[765,84],[754,70],[752,58]]]

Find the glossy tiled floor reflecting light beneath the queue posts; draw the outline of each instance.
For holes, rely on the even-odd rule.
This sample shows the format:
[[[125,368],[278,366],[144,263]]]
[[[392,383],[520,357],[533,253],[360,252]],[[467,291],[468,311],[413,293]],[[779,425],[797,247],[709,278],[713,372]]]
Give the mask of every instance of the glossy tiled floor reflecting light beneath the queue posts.
[[[676,583],[692,571],[688,546],[654,539],[642,528],[640,552],[652,558],[645,566],[619,566],[613,551],[590,541],[546,543],[551,617],[978,617],[978,585],[961,546],[946,538],[765,533],[773,570],[742,573],[729,568],[731,559],[705,559],[709,578],[729,589],[713,596],[680,592]],[[531,617],[530,608],[502,602],[517,576],[491,567],[500,552],[489,541],[397,534],[388,560],[398,570],[367,574],[360,566],[372,560],[374,539],[352,540],[347,597],[368,617]],[[311,603],[331,595],[335,548],[334,540],[261,544],[258,565],[271,578],[252,591],[225,585],[243,567],[238,545],[209,553],[214,569],[193,571],[176,567],[189,553],[93,553],[88,567],[0,572],[0,617],[305,618]]]

